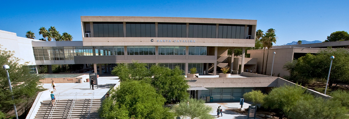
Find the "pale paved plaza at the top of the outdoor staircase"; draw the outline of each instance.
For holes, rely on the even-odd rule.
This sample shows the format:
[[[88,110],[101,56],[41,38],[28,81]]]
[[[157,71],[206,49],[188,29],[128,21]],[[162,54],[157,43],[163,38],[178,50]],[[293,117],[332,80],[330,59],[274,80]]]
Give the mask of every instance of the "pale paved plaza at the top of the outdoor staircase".
[[[100,99],[105,96],[106,92],[109,91],[110,87],[119,85],[120,82],[117,80],[117,76],[102,77],[98,78],[98,88],[95,85],[95,90],[90,89],[89,82],[83,83],[56,83],[57,91],[54,91],[56,98],[60,93],[59,99],[73,99],[77,92],[77,99],[91,99],[92,94],[95,93],[94,98]],[[51,83],[43,83],[44,88],[49,89],[49,92],[53,91]],[[44,96],[44,100],[51,100],[50,95]]]

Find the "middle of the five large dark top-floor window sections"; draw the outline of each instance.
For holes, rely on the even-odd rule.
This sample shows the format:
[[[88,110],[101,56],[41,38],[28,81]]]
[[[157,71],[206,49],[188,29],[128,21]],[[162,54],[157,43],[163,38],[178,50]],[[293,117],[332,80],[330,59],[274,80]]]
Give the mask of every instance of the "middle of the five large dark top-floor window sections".
[[[187,37],[186,23],[158,23],[158,37]]]

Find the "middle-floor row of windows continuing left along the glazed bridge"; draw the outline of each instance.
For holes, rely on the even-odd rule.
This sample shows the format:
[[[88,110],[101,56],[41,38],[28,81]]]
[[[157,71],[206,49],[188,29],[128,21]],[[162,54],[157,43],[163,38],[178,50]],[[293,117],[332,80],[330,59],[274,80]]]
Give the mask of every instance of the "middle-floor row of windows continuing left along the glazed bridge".
[[[74,56],[125,55],[124,46],[33,47],[35,60],[74,60]],[[155,46],[127,46],[127,55],[155,55]],[[186,55],[186,46],[158,46],[158,55]],[[189,46],[188,55],[207,55],[206,46]]]

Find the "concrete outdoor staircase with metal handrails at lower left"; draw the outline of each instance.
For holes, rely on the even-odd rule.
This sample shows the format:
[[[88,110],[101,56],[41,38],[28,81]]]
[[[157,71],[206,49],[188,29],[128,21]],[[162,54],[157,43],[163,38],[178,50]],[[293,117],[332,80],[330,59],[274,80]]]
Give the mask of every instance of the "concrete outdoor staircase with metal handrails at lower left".
[[[52,119],[68,119],[73,100],[61,100],[57,102],[56,109],[52,113]],[[91,99],[77,99],[72,111],[72,119],[86,119],[90,108]],[[99,119],[98,109],[101,99],[94,99],[90,112],[90,119]],[[47,119],[52,109],[51,101],[43,101],[34,119]]]

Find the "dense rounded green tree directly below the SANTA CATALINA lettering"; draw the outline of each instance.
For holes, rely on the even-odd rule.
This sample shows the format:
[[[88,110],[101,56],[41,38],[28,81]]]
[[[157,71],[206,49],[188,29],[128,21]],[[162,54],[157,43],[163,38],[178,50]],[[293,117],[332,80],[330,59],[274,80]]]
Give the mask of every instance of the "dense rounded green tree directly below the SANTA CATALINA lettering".
[[[154,76],[151,85],[156,89],[158,94],[163,95],[167,101],[174,99],[181,101],[187,99],[189,85],[183,75],[183,70],[176,66],[173,69],[153,65],[150,72]]]

